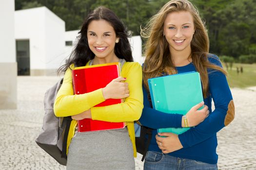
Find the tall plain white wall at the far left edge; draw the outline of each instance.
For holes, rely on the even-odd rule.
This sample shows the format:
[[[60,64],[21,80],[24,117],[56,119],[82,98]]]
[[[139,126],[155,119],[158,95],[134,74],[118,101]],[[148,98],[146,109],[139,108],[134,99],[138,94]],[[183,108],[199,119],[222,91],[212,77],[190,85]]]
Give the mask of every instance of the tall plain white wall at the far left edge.
[[[0,0],[0,109],[17,108],[14,0]]]

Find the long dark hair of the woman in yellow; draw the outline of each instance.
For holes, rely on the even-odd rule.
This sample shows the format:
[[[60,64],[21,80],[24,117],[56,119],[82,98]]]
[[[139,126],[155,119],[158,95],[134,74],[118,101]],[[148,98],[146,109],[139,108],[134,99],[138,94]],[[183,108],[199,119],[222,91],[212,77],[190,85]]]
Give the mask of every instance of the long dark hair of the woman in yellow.
[[[124,24],[113,11],[106,7],[99,6],[85,18],[82,28],[79,31],[78,43],[70,54],[67,63],[59,68],[58,73],[60,71],[66,71],[71,64],[75,64],[76,67],[85,66],[89,60],[92,60],[95,57],[95,54],[90,50],[88,45],[87,29],[88,25],[93,20],[100,19],[104,19],[110,23],[116,32],[116,36],[119,37],[119,42],[116,43],[114,49],[117,57],[125,59],[127,62],[133,61],[132,50],[128,40],[130,35]]]

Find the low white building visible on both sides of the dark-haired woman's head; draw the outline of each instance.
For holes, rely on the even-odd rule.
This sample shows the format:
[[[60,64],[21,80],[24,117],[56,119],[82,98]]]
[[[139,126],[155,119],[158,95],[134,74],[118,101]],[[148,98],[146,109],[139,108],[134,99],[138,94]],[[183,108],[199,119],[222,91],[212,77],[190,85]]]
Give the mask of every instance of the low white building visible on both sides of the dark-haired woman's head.
[[[67,31],[65,33],[65,56],[69,56],[72,50],[74,49],[74,45],[76,44],[77,36],[79,30],[75,31]],[[142,57],[142,41],[140,36],[132,36],[129,38],[129,42],[132,47],[132,54],[134,57],[134,61],[142,64],[144,58]]]

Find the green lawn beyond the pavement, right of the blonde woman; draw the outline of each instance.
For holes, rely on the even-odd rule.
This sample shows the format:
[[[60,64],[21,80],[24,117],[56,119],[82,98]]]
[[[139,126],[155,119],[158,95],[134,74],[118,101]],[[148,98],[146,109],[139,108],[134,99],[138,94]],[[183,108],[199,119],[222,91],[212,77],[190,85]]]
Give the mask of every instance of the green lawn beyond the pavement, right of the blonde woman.
[[[224,63],[222,63],[222,65],[225,66]],[[239,72],[237,74],[236,67],[239,69],[240,67],[243,67],[243,73]],[[228,70],[227,78],[230,87],[245,88],[249,86],[256,86],[256,64],[234,63],[232,69]]]

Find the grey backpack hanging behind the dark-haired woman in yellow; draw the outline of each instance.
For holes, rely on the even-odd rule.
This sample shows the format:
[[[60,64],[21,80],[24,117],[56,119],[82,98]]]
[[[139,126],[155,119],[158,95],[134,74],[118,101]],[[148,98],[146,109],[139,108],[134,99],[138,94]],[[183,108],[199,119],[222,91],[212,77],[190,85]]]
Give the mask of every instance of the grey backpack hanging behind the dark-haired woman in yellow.
[[[49,88],[44,95],[44,110],[42,130],[36,138],[36,143],[46,153],[50,154],[59,164],[67,164],[67,136],[72,118],[58,118],[53,111],[54,101],[62,85],[63,78]]]

